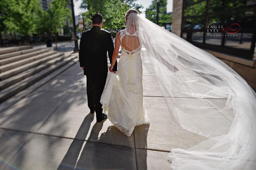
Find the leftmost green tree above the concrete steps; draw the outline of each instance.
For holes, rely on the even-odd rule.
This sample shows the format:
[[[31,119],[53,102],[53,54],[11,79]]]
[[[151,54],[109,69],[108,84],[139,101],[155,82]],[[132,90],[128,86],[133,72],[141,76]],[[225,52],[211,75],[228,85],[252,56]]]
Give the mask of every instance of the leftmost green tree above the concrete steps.
[[[9,33],[16,31],[24,35],[28,38],[29,43],[30,35],[36,34],[38,30],[38,21],[42,14],[40,1],[4,0],[4,2],[3,4],[8,5],[8,15],[3,18],[5,30]]]

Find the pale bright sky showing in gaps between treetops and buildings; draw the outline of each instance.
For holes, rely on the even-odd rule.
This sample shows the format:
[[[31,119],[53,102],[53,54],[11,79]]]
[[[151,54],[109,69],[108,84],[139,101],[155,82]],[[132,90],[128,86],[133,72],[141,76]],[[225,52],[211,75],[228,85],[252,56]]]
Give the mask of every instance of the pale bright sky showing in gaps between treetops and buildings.
[[[74,0],[74,9],[75,9],[75,15],[79,15],[79,13],[84,12],[84,9],[80,9],[79,6],[81,4],[82,0]],[[145,11],[146,8],[148,8],[151,4],[152,0],[137,0],[137,4],[141,4],[144,8],[141,11]],[[167,12],[172,12],[172,4],[173,0],[167,0]],[[145,16],[145,14],[144,14]]]

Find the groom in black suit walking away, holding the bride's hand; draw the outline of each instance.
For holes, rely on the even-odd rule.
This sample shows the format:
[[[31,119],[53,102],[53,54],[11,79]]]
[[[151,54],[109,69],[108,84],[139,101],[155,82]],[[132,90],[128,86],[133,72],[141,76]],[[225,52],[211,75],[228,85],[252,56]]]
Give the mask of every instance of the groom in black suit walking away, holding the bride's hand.
[[[90,113],[96,111],[97,122],[107,118],[102,113],[100,97],[104,90],[107,73],[108,60],[110,63],[114,51],[114,43],[110,32],[101,29],[103,17],[101,14],[95,14],[92,18],[93,27],[82,33],[79,46],[79,63],[86,75],[87,99]],[[113,72],[117,71],[117,62]]]

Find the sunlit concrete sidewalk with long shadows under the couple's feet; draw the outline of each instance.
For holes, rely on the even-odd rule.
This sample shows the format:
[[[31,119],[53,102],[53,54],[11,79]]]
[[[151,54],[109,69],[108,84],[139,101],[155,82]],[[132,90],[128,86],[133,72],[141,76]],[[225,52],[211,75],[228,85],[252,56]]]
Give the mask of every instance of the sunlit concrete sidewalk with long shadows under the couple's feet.
[[[0,169],[171,169],[167,155],[172,148],[188,149],[207,138],[172,120],[144,67],[143,89],[150,124],[137,126],[127,137],[110,121],[96,123],[96,115],[89,114],[86,77],[75,64],[0,112]],[[201,102],[220,116],[214,103],[225,105],[224,99],[211,99],[213,105],[178,100]]]

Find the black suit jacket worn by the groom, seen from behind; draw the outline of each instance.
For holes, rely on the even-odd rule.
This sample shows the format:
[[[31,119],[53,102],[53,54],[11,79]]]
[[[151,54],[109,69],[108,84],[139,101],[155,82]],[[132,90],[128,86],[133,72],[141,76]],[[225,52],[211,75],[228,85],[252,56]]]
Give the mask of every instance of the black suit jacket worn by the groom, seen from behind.
[[[84,67],[84,75],[105,77],[108,73],[108,59],[112,61],[114,43],[110,32],[93,26],[82,33],[79,46],[79,63]],[[117,71],[117,61],[113,71]]]

